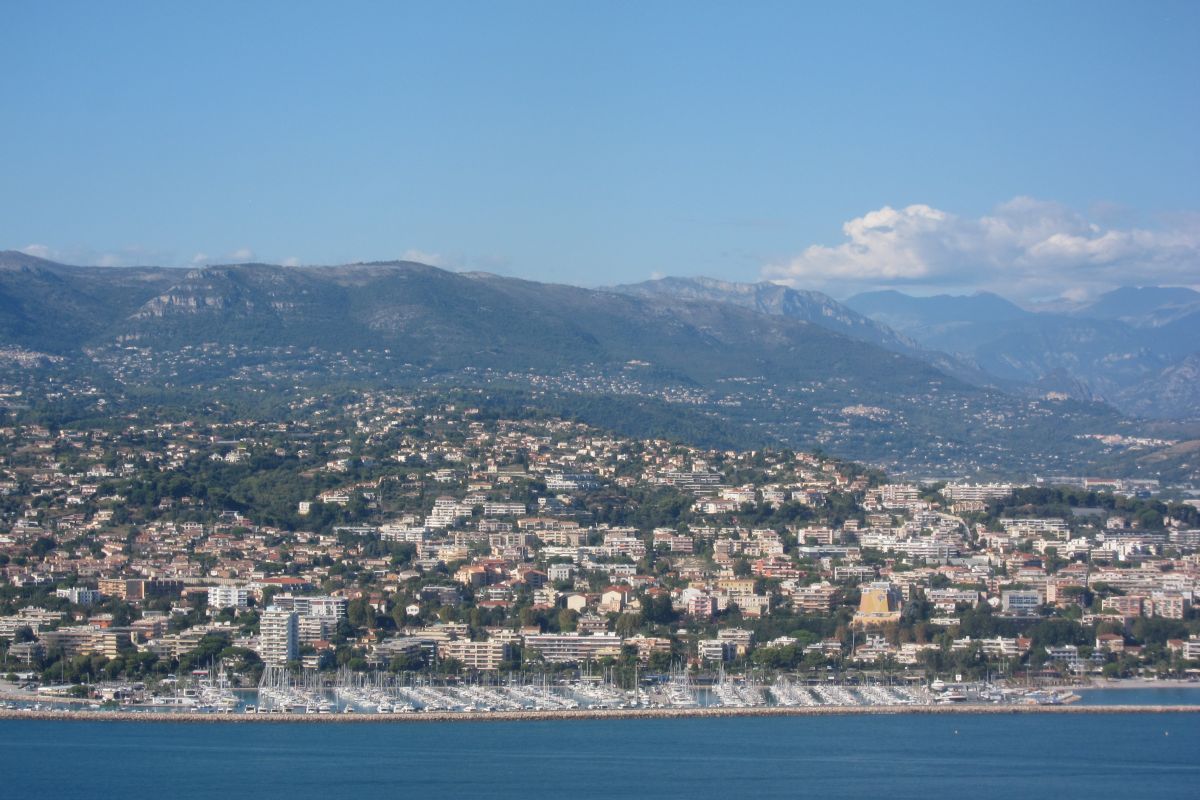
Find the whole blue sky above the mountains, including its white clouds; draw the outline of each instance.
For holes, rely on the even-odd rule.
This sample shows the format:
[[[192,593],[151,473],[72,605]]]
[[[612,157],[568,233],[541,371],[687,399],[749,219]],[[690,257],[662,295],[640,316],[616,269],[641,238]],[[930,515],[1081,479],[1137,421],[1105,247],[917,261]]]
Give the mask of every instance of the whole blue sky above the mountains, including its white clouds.
[[[1195,2],[10,2],[0,248],[1200,283]]]

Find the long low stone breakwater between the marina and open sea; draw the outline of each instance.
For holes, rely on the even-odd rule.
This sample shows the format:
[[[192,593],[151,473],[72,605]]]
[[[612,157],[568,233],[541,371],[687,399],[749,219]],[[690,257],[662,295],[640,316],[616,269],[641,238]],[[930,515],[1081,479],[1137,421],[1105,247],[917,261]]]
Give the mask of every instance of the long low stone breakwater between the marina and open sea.
[[[71,722],[181,722],[181,723],[421,723],[421,722],[548,722],[571,720],[679,720],[701,717],[821,717],[896,715],[1019,715],[1019,714],[1200,714],[1200,705],[869,705],[758,709],[605,709],[560,711],[458,711],[428,714],[188,714],[161,711],[68,711],[0,709],[2,720]]]

